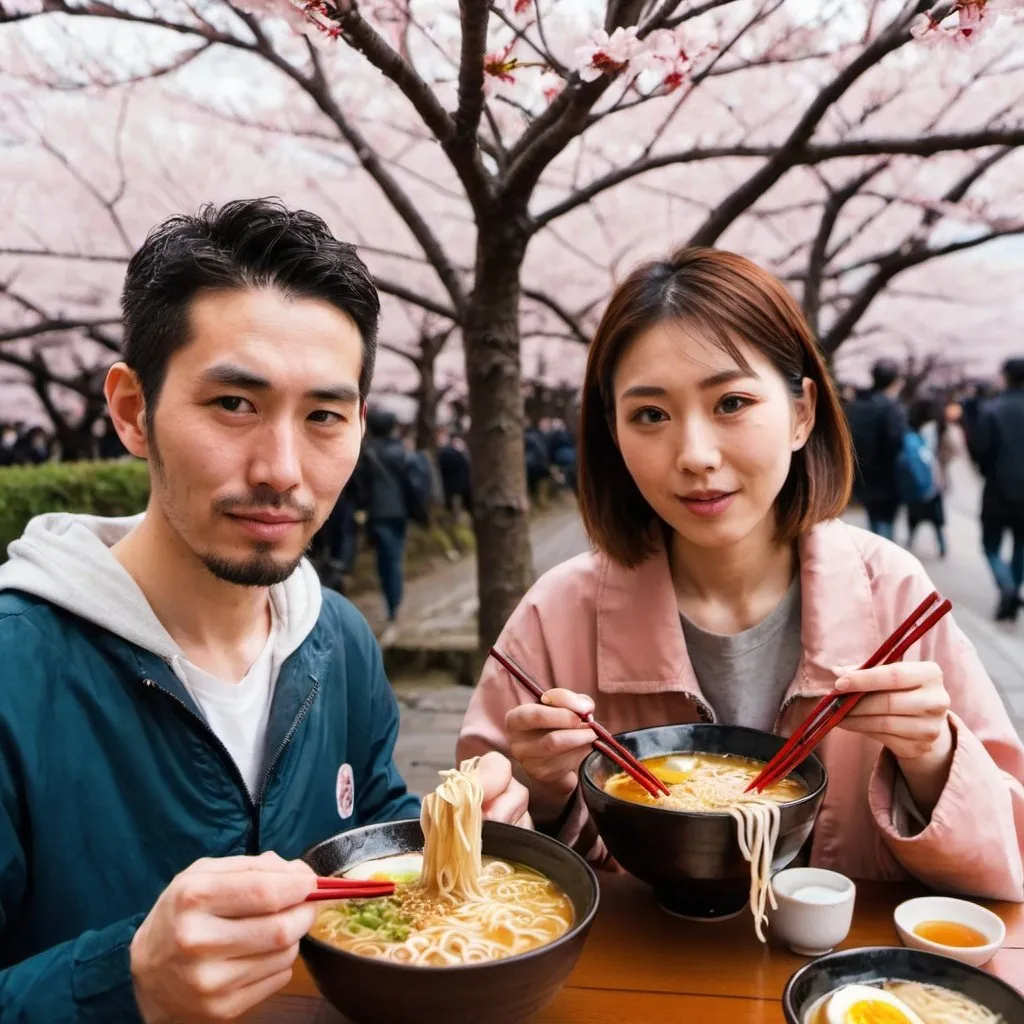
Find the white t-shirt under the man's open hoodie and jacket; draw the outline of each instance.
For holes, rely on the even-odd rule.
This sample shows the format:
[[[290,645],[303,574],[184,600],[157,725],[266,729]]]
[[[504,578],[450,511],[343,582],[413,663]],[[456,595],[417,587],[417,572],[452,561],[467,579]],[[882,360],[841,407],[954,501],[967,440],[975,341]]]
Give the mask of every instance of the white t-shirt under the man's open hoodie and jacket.
[[[263,650],[237,683],[225,683],[187,658],[177,659],[182,682],[206,716],[207,724],[239,766],[253,800],[262,779],[266,725],[278,678],[273,664],[275,620],[276,616],[272,616]]]

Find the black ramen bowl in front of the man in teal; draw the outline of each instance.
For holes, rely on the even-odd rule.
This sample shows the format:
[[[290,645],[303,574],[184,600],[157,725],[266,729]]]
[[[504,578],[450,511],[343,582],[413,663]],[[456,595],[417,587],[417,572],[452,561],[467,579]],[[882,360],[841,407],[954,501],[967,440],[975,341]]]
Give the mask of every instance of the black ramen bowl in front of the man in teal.
[[[317,874],[336,874],[367,860],[422,849],[419,821],[391,821],[335,836],[302,859]],[[554,998],[597,912],[597,878],[561,843],[513,825],[485,821],[483,853],[532,867],[554,882],[572,903],[571,928],[529,952],[460,967],[372,959],[307,935],[302,957],[324,997],[354,1024],[513,1024]]]

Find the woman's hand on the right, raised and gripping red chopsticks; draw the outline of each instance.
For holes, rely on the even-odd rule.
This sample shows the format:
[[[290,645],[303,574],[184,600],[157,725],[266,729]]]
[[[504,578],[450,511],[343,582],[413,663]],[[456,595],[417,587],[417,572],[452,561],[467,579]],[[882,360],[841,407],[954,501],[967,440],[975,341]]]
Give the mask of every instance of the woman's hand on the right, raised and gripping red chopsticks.
[[[863,692],[841,728],[877,739],[899,762],[919,809],[931,814],[953,759],[949,694],[934,662],[839,669],[840,693]]]

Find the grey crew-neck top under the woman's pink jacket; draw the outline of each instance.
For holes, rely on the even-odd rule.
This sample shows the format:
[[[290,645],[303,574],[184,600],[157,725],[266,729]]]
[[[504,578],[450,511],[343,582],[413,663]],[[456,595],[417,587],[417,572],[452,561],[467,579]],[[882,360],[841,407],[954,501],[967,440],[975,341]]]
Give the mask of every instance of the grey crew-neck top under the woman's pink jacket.
[[[700,689],[722,725],[772,731],[800,665],[800,578],[767,617],[742,633],[709,633],[680,615]]]

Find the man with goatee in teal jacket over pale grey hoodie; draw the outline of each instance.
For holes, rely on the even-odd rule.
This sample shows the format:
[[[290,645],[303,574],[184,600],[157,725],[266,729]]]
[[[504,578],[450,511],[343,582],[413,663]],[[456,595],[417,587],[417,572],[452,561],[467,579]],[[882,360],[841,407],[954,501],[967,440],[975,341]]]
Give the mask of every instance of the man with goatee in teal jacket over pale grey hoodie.
[[[128,265],[114,425],[145,513],[47,515],[0,570],[0,1020],[237,1017],[289,979],[310,844],[415,816],[366,622],[302,553],[359,451],[379,300],[267,201]],[[484,812],[523,821],[497,756]]]

